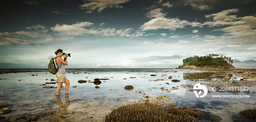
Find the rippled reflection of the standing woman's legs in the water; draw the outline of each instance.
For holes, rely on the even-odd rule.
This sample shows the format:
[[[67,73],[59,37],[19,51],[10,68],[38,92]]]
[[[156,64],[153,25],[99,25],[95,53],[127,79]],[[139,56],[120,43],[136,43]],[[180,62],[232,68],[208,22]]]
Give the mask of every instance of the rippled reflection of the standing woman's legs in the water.
[[[68,110],[68,106],[70,104],[68,94],[65,96],[66,103],[63,105],[60,99],[60,95],[56,95],[56,100],[59,105],[59,111],[56,114],[51,115],[50,120],[54,122],[65,122],[65,118],[67,117],[66,111]]]

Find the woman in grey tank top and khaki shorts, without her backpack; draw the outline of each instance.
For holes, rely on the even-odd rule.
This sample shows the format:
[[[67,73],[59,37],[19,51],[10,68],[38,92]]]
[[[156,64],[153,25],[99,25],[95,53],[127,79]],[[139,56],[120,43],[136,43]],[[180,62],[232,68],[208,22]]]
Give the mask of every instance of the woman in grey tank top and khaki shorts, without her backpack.
[[[65,86],[65,91],[66,94],[68,94],[68,89],[69,89],[69,81],[68,78],[65,76],[66,70],[65,70],[65,65],[68,65],[68,61],[67,61],[67,56],[68,54],[64,54],[63,55],[63,50],[62,49],[58,49],[55,52],[56,56],[59,56],[55,59],[55,62],[59,68],[59,71],[56,73],[56,77],[58,78],[58,87],[56,89],[56,95],[60,95],[60,89],[62,87],[63,82],[66,84]],[[62,56],[64,56],[64,60],[61,58]]]

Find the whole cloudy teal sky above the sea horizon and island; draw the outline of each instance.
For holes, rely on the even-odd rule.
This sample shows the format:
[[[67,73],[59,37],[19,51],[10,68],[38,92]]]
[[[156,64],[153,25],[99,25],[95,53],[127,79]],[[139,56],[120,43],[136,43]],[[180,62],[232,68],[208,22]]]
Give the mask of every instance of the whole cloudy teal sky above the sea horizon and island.
[[[256,0],[4,0],[0,69],[177,68],[193,56],[256,67]]]

